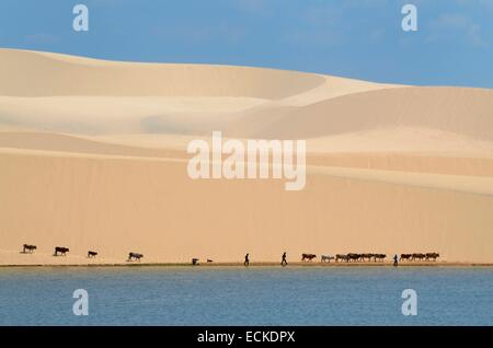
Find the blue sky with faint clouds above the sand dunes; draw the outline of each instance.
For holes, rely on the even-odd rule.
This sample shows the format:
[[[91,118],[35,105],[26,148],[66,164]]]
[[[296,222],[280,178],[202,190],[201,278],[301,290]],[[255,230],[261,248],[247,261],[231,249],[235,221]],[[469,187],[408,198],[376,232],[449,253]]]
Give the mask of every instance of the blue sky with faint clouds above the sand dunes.
[[[72,30],[77,3],[89,32]],[[493,0],[2,0],[0,47],[493,88]]]

